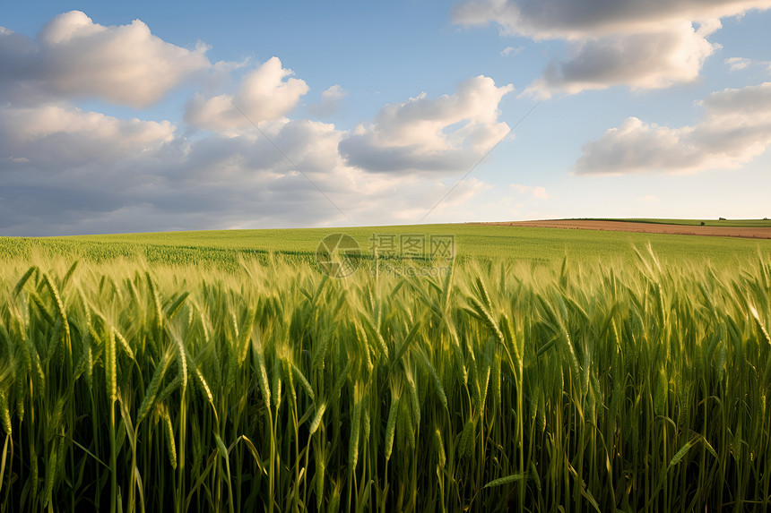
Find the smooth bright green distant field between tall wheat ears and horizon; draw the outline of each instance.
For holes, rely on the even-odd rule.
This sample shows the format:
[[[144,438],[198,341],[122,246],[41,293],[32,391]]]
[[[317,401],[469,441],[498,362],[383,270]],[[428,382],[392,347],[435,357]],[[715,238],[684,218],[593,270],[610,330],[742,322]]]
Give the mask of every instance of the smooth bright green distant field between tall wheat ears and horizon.
[[[226,230],[72,237],[0,237],[0,255],[30,258],[33,254],[110,261],[119,257],[170,264],[238,266],[241,256],[278,252],[312,259],[326,235],[346,233],[354,237],[365,255],[372,254],[373,234],[455,235],[458,256],[463,259],[511,261],[633,261],[634,246],[652,244],[663,259],[712,261],[715,264],[771,254],[771,241],[699,237],[689,235],[564,230],[533,227],[493,227],[465,224],[397,227],[345,227],[313,229]]]

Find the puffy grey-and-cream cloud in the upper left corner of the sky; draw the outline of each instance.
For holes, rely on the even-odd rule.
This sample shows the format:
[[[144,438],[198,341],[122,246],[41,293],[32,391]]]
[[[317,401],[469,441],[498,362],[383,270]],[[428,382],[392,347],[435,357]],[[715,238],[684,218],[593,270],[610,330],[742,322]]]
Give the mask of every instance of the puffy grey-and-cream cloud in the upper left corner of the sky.
[[[143,21],[106,27],[71,11],[49,21],[35,39],[0,30],[0,95],[17,103],[96,97],[147,107],[208,68],[206,50],[163,41]]]

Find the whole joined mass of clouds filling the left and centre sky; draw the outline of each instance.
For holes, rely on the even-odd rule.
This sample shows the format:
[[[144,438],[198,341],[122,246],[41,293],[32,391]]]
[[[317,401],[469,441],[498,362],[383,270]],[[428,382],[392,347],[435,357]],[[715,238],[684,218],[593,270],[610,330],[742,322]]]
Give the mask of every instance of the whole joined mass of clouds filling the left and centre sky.
[[[78,11],[35,38],[0,28],[0,235],[346,224],[338,208],[360,224],[415,222],[509,132],[498,103],[513,88],[488,77],[385,106],[349,132],[291,118],[310,86],[278,57],[246,70],[206,50]],[[237,73],[235,88],[212,92],[212,74]],[[78,107],[142,109],[183,84],[207,92],[189,98],[181,126]],[[316,115],[345,95],[328,87]],[[437,212],[487,189],[468,180]]]

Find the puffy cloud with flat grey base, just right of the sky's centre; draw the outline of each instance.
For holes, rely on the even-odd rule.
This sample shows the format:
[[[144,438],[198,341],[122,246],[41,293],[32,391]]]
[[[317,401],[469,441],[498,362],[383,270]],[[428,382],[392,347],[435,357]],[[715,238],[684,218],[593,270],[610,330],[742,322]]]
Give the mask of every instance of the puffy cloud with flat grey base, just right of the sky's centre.
[[[467,168],[509,133],[498,122],[498,103],[512,90],[480,75],[458,84],[453,95],[421,93],[386,105],[372,124],[341,141],[340,151],[351,166],[375,172]]]

